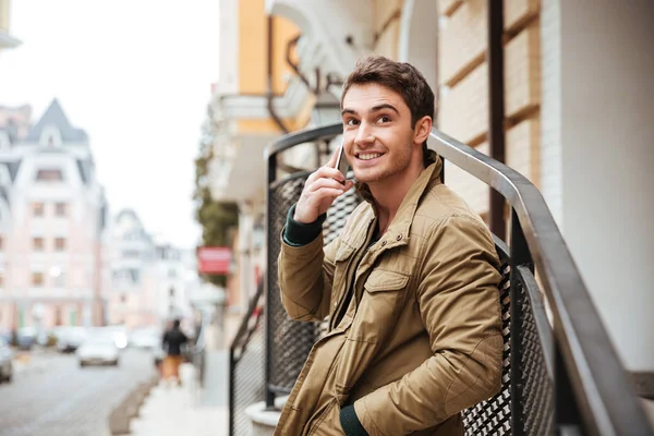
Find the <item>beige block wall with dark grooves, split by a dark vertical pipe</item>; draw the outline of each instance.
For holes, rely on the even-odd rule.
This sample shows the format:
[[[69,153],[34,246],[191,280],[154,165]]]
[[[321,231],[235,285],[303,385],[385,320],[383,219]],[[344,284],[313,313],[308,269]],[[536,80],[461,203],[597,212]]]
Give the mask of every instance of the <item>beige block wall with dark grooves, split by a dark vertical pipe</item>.
[[[438,4],[438,128],[487,154],[486,0]],[[540,0],[505,0],[506,164],[536,185],[542,173],[540,10]],[[487,213],[483,183],[449,165],[446,183],[480,214]]]

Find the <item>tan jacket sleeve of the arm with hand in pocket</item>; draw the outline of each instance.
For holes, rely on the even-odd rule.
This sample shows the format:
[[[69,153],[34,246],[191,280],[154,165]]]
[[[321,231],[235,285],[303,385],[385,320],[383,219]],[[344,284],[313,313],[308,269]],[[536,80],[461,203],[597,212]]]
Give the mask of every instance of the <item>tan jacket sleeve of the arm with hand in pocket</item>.
[[[501,386],[500,276],[491,234],[473,218],[447,217],[425,246],[415,299],[433,355],[354,402],[372,436],[431,428]]]

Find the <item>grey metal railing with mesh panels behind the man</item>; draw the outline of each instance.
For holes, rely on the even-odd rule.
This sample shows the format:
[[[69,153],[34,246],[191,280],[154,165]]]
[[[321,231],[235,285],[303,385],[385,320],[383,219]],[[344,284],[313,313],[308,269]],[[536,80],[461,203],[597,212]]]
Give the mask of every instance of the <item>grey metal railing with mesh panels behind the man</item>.
[[[290,320],[280,303],[280,231],[310,172],[280,177],[278,161],[298,145],[323,142],[341,132],[340,123],[296,132],[276,141],[266,153],[268,270],[263,387],[269,407],[276,396],[290,391],[320,335],[318,324]],[[502,389],[463,412],[467,434],[654,434],[538,190],[506,165],[439,131],[432,131],[429,145],[441,158],[500,193],[511,209],[510,240],[505,243],[496,238],[504,264]],[[354,194],[335,203],[328,216],[337,218],[324,228],[326,241],[339,231],[356,203]]]

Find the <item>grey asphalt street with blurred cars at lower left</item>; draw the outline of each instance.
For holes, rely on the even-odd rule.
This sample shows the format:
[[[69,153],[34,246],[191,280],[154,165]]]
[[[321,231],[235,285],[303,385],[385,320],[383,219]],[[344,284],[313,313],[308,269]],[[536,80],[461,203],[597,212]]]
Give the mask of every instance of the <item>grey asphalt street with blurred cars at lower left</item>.
[[[152,355],[138,350],[124,350],[119,367],[81,368],[74,354],[33,353],[11,384],[0,384],[0,436],[106,436],[111,409],[154,371]]]

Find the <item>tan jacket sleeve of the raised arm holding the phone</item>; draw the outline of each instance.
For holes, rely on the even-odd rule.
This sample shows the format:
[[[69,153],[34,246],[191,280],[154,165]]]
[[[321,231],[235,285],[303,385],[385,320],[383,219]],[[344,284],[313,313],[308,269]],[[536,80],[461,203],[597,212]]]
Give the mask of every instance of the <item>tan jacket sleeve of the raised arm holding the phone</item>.
[[[287,314],[296,320],[323,320],[329,315],[335,255],[340,238],[323,246],[323,234],[306,245],[281,240],[278,281]]]

